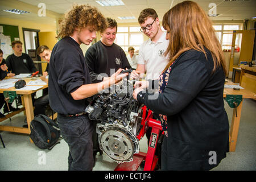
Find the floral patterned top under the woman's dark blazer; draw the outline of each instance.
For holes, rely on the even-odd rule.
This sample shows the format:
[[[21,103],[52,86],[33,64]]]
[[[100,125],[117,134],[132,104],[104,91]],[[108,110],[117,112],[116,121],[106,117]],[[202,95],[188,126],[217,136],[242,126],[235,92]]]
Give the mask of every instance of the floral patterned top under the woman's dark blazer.
[[[166,88],[166,85],[168,83],[169,74],[171,72],[172,65],[174,65],[174,63],[175,63],[175,61],[172,62],[170,67],[159,76],[159,78],[158,78],[159,93],[164,92],[164,89]],[[168,137],[168,134],[167,134],[167,116],[163,115],[163,114],[159,114],[159,116],[160,116],[160,122],[161,122],[161,125],[163,127],[164,134],[166,135],[166,137]]]

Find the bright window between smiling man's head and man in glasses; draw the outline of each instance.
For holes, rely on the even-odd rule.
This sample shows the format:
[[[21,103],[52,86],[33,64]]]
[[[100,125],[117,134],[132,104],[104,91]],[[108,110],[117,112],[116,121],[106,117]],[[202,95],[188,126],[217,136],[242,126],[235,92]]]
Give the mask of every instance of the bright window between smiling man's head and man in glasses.
[[[128,52],[130,46],[133,46],[135,51],[139,50],[139,46],[144,42],[143,33],[140,31],[140,28],[141,27],[118,27],[114,43],[122,47],[125,52]]]

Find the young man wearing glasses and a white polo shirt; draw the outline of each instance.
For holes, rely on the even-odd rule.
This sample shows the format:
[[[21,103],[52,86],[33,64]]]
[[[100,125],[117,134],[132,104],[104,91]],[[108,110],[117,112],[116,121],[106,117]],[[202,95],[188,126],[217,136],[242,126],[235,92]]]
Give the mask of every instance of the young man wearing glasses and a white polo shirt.
[[[131,78],[138,79],[146,73],[146,79],[156,80],[168,63],[164,51],[169,40],[166,40],[166,32],[160,28],[160,20],[154,9],[142,10],[138,22],[141,31],[150,39],[139,48],[137,69],[131,73]]]

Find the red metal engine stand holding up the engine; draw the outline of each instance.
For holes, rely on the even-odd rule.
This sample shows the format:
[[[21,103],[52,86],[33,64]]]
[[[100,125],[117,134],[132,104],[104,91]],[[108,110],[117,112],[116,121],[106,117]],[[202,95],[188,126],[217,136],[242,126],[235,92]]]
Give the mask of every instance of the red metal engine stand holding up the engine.
[[[162,126],[160,121],[152,119],[152,111],[148,111],[148,117],[146,118],[146,106],[143,107],[143,117],[142,117],[142,130],[137,136],[141,139],[146,133],[147,126],[152,127],[150,142],[148,144],[147,154],[144,152],[139,152],[139,154],[133,155],[133,161],[129,163],[121,163],[114,169],[114,171],[137,171],[139,165],[141,165],[142,160],[145,160],[144,171],[152,171],[155,169],[156,163],[158,162],[158,156],[155,156],[156,146],[158,144],[159,133],[162,131]],[[145,119],[146,118],[146,119]]]

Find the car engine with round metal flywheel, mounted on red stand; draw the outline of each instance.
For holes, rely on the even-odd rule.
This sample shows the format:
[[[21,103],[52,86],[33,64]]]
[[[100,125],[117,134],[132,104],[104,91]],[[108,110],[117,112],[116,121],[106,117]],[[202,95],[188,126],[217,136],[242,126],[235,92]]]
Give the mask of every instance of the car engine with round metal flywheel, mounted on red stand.
[[[124,79],[89,99],[89,119],[98,121],[100,148],[117,163],[133,161],[139,153],[137,135],[142,128],[142,105],[133,98],[134,81]]]

